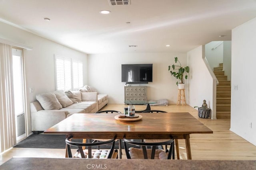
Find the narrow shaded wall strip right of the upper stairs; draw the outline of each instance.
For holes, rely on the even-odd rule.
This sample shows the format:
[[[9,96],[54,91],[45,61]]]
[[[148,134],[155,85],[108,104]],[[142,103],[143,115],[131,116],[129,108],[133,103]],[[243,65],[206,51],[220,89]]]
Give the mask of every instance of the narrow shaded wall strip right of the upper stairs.
[[[231,80],[231,41],[223,41],[223,70],[227,80]]]

